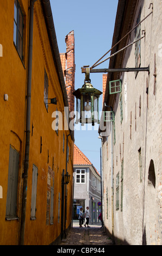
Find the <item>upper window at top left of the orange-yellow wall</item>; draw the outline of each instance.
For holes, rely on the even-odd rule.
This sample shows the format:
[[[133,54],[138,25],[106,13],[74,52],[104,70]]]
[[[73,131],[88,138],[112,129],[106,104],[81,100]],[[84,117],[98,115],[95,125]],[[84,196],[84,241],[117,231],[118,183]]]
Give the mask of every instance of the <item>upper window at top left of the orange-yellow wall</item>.
[[[14,3],[14,45],[23,60],[23,13],[17,0]]]

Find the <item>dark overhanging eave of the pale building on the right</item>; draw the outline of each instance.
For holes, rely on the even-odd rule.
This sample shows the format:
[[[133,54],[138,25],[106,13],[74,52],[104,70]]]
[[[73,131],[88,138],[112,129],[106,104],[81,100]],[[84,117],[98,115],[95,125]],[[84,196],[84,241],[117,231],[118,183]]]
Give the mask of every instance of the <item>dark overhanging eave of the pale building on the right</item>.
[[[132,21],[134,17],[134,11],[136,9],[136,5],[138,0],[120,0],[117,6],[114,34],[113,34],[113,42],[112,47],[119,42],[124,35],[126,35],[131,27]],[[112,50],[110,55],[113,55],[115,52],[119,51],[121,48],[127,45],[129,34],[124,38],[119,44],[117,44]],[[113,58],[110,58],[109,69],[117,69],[122,68],[124,51],[120,52]],[[113,107],[116,95],[109,94],[109,82],[112,80],[117,80],[120,78],[120,72],[109,72],[107,76],[107,85],[105,88],[104,100],[103,100],[103,109],[102,111],[107,111],[106,105]],[[102,121],[103,115],[101,117]],[[101,130],[98,130],[98,133],[101,133]]]

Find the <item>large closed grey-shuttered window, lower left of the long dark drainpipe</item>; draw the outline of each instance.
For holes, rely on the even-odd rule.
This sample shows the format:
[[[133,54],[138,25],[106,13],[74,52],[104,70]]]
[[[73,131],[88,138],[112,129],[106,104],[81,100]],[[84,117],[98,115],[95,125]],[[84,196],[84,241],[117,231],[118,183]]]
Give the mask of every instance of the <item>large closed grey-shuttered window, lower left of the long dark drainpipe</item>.
[[[8,170],[8,190],[6,203],[6,220],[17,218],[17,186],[18,186],[18,162],[19,154],[10,145],[9,170]]]

